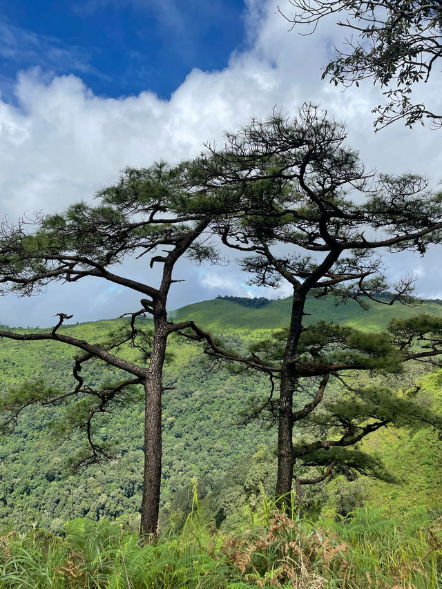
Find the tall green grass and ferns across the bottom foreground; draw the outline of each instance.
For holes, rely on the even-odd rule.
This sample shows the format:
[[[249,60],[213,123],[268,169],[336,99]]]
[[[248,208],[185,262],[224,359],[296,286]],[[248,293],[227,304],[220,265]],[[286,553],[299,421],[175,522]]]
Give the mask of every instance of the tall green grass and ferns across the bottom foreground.
[[[76,519],[58,537],[44,530],[0,536],[3,589],[442,587],[442,522],[423,508],[402,521],[357,509],[341,521],[309,521],[262,497],[236,533],[204,521],[196,490],[181,532],[148,545],[117,522]]]

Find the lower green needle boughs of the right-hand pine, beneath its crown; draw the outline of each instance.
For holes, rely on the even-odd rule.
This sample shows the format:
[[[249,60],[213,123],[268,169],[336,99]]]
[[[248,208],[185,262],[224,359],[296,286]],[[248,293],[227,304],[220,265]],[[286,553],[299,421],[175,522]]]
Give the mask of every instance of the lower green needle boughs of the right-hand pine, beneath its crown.
[[[425,400],[423,402],[422,396],[411,398],[398,393],[379,378],[372,382],[376,375],[391,380],[393,375],[405,371],[407,354],[412,358],[430,358],[437,364],[438,360],[432,360],[431,356],[437,356],[441,349],[440,325],[439,318],[419,315],[413,320],[392,320],[388,331],[381,335],[324,320],[303,328],[293,360],[301,367],[301,371],[295,367],[298,370],[296,405],[300,405],[302,392],[308,392],[313,400],[294,412],[298,425],[293,447],[298,461],[295,476],[305,479],[300,476],[302,467],[316,465],[321,470],[316,475],[307,471],[307,479],[302,484],[314,483],[327,467],[335,470],[345,467],[392,482],[394,476],[384,471],[378,457],[375,459],[358,447],[352,452],[351,447],[387,425],[414,429],[433,425],[442,429],[441,414],[434,412],[434,407]],[[260,360],[273,369],[274,378],[279,378],[278,368],[287,363],[289,337],[289,329],[285,328],[249,345],[251,353],[258,354]],[[303,367],[305,374],[302,374]],[[315,367],[318,367],[317,373]],[[327,367],[330,373],[327,379],[319,382],[317,378],[315,383],[312,377],[325,374]],[[339,382],[330,390],[329,380],[334,376]],[[325,391],[327,385],[329,388]],[[278,404],[271,398],[254,397],[245,410],[249,418],[263,416],[274,420]]]

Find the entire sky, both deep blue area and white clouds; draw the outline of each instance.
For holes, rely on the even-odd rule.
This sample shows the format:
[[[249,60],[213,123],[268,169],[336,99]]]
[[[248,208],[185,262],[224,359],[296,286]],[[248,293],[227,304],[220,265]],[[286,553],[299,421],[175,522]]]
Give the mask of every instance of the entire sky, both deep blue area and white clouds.
[[[275,106],[296,115],[316,102],[347,125],[349,144],[368,169],[426,173],[441,180],[441,137],[427,127],[396,124],[374,134],[370,110],[378,88],[341,88],[321,80],[342,32],[325,21],[315,35],[289,32],[277,13],[289,0],[3,0],[0,3],[0,219],[52,213],[113,184],[126,166],[178,162],[224,131],[267,117]],[[439,104],[441,77],[420,86]],[[394,259],[393,259],[394,258]],[[144,260],[144,258],[142,258]],[[388,276],[419,275],[427,298],[442,298],[439,249],[386,257]],[[126,276],[155,284],[157,270],[128,260]],[[287,296],[251,289],[232,256],[227,267],[180,262],[169,308],[213,298]],[[0,322],[51,325],[137,309],[138,296],[103,281],[51,284],[32,298],[0,298]]]

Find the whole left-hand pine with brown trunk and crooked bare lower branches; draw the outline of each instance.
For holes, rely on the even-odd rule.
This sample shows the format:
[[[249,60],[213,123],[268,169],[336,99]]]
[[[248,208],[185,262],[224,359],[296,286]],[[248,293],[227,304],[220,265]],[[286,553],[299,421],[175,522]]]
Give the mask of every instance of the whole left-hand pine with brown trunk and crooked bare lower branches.
[[[86,446],[74,459],[81,467],[109,458],[109,445],[94,436],[94,418],[103,412],[130,402],[136,385],[144,388],[144,483],[141,533],[155,533],[160,503],[162,371],[166,343],[178,329],[167,317],[166,303],[173,282],[173,269],[183,256],[194,262],[215,260],[216,251],[207,244],[211,222],[198,209],[200,195],[183,189],[184,167],[156,164],[151,168],[127,169],[115,186],[100,191],[99,204],[79,202],[60,214],[35,220],[21,220],[17,226],[3,222],[0,237],[1,293],[30,296],[50,282],[77,282],[86,277],[99,278],[140,293],[141,308],[125,313],[128,321],[121,331],[106,341],[89,342],[66,334],[61,328],[72,314],[57,313],[59,320],[49,331],[16,333],[2,329],[1,338],[22,342],[53,340],[76,348],[73,378],[75,386],[59,392],[43,383],[26,383],[3,396],[3,430],[11,429],[20,412],[33,403],[49,405],[70,403],[70,420],[86,434]],[[204,234],[204,236],[203,236]],[[140,282],[115,270],[115,264],[135,256],[144,272],[154,264],[162,265],[158,286]],[[152,324],[140,322],[151,316]],[[128,361],[121,353],[123,345],[140,353],[140,361]],[[126,373],[102,387],[90,387],[81,369],[91,360]],[[135,389],[134,389],[135,387]],[[71,423],[72,428],[72,423]]]

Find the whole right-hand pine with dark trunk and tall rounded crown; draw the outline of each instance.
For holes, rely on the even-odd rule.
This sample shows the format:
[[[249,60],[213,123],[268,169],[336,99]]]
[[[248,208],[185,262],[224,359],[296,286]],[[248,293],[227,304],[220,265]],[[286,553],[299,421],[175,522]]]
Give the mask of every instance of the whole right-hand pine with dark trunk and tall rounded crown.
[[[184,331],[203,340],[207,354],[269,375],[271,393],[258,413],[270,409],[278,421],[279,496],[291,492],[296,461],[342,463],[343,448],[401,422],[402,415],[440,424],[438,416],[388,387],[352,389],[348,382],[361,371],[396,374],[409,360],[437,362],[440,322],[425,317],[414,324],[397,322],[382,336],[321,322],[305,325],[307,296],[363,306],[412,302],[414,279],[389,284],[381,252],[424,255],[442,238],[441,195],[427,191],[416,175],[367,173],[345,137],[343,126],[305,104],[297,118],[275,112],[265,122],[254,119],[229,133],[224,149],[209,146],[188,177],[191,186],[210,195],[209,208],[211,202],[224,203],[218,233],[225,246],[240,253],[249,283],[276,288],[285,281],[293,293],[289,327],[252,347],[249,356],[223,350],[190,322]],[[347,392],[332,402],[325,391],[333,379]],[[315,425],[320,436],[306,434],[294,445],[294,425]]]

